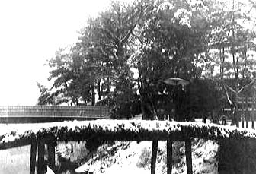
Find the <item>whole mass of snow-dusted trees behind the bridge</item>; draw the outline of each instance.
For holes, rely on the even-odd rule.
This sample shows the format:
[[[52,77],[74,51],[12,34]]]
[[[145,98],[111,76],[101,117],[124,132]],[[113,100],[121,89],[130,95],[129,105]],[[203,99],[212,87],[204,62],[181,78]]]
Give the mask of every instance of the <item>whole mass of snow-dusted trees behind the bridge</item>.
[[[223,105],[236,115],[236,98],[251,89],[256,75],[255,6],[252,1],[112,2],[88,19],[75,46],[50,59],[53,87],[38,84],[38,104],[105,104],[114,118],[142,112],[145,119],[159,119],[175,110],[174,119],[184,120]],[[168,78],[190,84],[165,84]]]

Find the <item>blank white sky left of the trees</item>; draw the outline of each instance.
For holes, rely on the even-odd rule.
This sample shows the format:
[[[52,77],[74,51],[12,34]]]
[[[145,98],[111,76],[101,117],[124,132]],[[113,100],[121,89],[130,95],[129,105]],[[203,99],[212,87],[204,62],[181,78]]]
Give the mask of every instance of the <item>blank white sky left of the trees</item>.
[[[77,31],[106,0],[0,0],[0,106],[35,105],[47,84],[43,64],[59,47],[75,43]]]

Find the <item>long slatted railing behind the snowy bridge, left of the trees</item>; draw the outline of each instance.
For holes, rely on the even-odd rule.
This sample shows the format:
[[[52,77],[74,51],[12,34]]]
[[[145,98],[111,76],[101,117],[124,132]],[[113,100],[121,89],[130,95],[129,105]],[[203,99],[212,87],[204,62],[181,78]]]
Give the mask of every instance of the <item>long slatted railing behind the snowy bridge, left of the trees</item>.
[[[0,106],[1,123],[110,119],[105,106]]]

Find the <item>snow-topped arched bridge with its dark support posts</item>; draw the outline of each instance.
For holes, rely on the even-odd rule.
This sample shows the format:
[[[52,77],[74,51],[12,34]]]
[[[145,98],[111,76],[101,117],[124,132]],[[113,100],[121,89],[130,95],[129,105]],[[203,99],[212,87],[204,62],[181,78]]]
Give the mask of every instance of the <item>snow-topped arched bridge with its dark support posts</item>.
[[[256,131],[200,122],[96,120],[54,122],[29,125],[2,125],[0,150],[31,144],[30,173],[34,173],[38,147],[37,173],[44,173],[44,144],[47,144],[48,161],[54,169],[54,141],[83,141],[90,138],[121,141],[153,141],[157,151],[157,141],[167,141],[172,148],[173,141],[185,141],[187,173],[192,174],[191,138],[218,140],[220,138],[256,141]],[[155,147],[155,148],[154,148]],[[153,151],[152,149],[152,151]],[[168,173],[171,173],[171,150],[167,150]],[[155,153],[156,155],[156,153]],[[152,153],[152,173],[155,172]],[[155,158],[154,158],[155,159]]]

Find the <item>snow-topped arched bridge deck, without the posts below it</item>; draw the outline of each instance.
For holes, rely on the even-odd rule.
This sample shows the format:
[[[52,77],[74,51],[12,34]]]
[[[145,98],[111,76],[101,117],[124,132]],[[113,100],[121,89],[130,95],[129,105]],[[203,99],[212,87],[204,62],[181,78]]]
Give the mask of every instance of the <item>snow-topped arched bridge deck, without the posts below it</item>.
[[[53,122],[41,124],[0,125],[0,149],[30,144],[32,138],[59,141],[82,141],[89,138],[123,141],[175,140],[187,137],[203,139],[251,139],[256,131],[234,126],[203,124],[201,122],[96,120]]]

